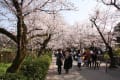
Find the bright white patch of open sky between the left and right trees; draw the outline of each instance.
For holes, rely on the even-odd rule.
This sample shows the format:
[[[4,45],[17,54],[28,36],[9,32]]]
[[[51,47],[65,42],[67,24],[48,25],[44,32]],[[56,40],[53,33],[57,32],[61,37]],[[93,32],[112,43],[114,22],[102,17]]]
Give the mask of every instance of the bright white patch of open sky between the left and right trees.
[[[62,13],[65,22],[69,25],[73,25],[76,22],[85,22],[95,8],[105,7],[104,5],[98,5],[95,0],[70,0],[75,4],[78,11],[64,11]]]

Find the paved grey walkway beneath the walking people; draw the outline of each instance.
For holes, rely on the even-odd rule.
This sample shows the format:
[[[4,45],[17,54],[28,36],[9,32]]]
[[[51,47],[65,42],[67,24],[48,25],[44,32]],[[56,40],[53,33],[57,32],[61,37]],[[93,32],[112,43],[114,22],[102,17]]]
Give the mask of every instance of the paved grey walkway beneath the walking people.
[[[73,67],[68,74],[65,74],[64,69],[62,69],[62,74],[58,75],[56,58],[53,56],[45,80],[120,80],[120,68],[106,72],[105,64],[102,63],[99,70],[87,67],[82,67],[82,69],[79,70],[76,61],[74,61]]]

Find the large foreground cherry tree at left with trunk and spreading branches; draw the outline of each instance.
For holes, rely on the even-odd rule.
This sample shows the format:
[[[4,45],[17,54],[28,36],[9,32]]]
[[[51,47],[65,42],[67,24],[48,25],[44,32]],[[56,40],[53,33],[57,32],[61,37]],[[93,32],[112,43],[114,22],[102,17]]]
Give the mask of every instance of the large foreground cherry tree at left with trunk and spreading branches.
[[[52,9],[52,5],[56,7]],[[38,36],[43,36],[43,34],[28,36],[34,30],[39,29],[28,29],[29,26],[27,25],[26,21],[27,17],[36,12],[39,12],[39,14],[41,12],[53,14],[54,12],[55,14],[61,10],[73,9],[73,5],[66,2],[65,0],[0,0],[0,6],[0,15],[2,18],[6,17],[8,20],[12,19],[13,21],[12,25],[9,25],[8,28],[14,26],[14,29],[16,31],[15,35],[9,32],[8,28],[6,29],[4,26],[0,27],[0,33],[8,36],[17,44],[16,57],[13,60],[12,65],[7,69],[7,72],[10,73],[19,71],[22,62],[27,55],[26,51],[29,40]]]

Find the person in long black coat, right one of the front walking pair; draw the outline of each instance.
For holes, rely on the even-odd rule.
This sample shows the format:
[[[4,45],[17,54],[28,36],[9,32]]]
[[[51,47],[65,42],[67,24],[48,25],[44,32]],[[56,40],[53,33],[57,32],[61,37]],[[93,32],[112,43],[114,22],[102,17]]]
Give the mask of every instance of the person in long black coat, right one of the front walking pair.
[[[68,73],[69,69],[72,68],[72,56],[69,51],[65,52],[65,61],[64,61],[64,69],[65,72]]]

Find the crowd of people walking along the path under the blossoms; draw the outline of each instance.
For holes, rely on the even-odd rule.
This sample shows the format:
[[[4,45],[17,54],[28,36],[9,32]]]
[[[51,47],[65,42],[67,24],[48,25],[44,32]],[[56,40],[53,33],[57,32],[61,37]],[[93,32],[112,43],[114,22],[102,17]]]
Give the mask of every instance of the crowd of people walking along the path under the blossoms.
[[[54,50],[58,74],[61,74],[62,66],[65,70],[65,73],[68,74],[69,69],[72,68],[73,60],[77,61],[77,66],[79,70],[81,70],[81,66],[99,69],[100,60],[98,58],[98,55],[101,54],[102,54],[101,50],[95,48],[86,49],[67,48]]]

